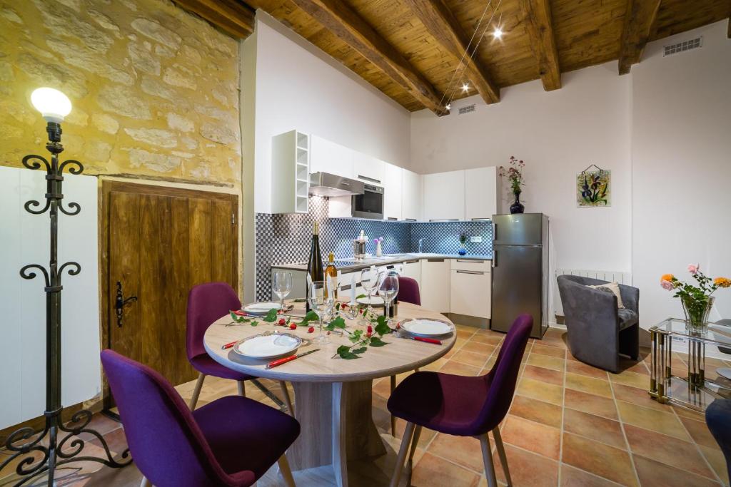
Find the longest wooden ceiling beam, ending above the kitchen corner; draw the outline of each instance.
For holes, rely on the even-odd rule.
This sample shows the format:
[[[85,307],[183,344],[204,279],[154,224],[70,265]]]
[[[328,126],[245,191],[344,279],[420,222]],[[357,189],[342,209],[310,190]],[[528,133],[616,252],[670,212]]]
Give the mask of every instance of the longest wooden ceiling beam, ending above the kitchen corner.
[[[431,83],[366,20],[341,0],[292,0],[347,45],[436,115],[444,115],[442,99]]]

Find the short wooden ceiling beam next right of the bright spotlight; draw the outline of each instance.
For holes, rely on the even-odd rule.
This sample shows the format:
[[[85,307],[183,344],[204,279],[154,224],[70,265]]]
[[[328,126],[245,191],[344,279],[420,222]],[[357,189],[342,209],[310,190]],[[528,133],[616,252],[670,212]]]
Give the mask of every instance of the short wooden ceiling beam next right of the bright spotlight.
[[[553,37],[548,0],[521,0],[526,30],[531,38],[531,50],[538,62],[538,72],[545,91],[561,88],[561,66],[558,64],[556,39]]]

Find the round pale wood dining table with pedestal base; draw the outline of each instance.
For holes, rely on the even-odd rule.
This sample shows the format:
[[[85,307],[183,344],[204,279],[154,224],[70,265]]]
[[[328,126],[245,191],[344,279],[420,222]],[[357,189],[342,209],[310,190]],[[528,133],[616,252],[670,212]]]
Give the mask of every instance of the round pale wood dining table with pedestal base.
[[[304,303],[295,303],[289,315],[303,316]],[[398,304],[395,321],[406,318],[436,318],[451,323],[444,315],[409,303]],[[346,320],[347,329],[363,329],[358,318]],[[338,486],[348,485],[347,462],[387,453],[376,429],[371,411],[373,380],[409,372],[444,356],[455,344],[456,331],[440,337],[441,345],[408,340],[387,334],[383,347],[368,347],[360,358],[345,360],[337,356],[340,345],[351,345],[347,337],[330,334],[330,343],[319,345],[317,324],[314,333],[307,326],[296,330],[258,321],[226,326],[231,323],[226,315],[208,327],[205,332],[205,350],[219,364],[244,374],[271,380],[286,380],[295,390],[295,417],[301,425],[300,437],[287,451],[293,471],[332,465]],[[266,369],[267,360],[246,358],[222,346],[266,331],[287,331],[297,334],[305,342],[295,353],[319,348],[317,352]]]

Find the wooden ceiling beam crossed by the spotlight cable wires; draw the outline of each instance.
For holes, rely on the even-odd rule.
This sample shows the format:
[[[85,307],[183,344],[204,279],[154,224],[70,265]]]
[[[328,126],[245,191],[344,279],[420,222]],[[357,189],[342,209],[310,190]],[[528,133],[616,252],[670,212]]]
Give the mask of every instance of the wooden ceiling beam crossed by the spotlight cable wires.
[[[404,4],[417,15],[429,34],[452,53],[455,58],[464,64],[463,76],[472,82],[474,88],[485,100],[485,103],[500,101],[500,88],[493,83],[485,66],[474,59],[474,56],[464,55],[469,46],[469,38],[452,11],[443,0],[404,0]],[[477,44],[477,43],[476,43]],[[470,46],[474,51],[476,45]],[[461,64],[458,66],[461,66]],[[454,80],[458,83],[459,80]],[[449,89],[450,87],[447,87]]]

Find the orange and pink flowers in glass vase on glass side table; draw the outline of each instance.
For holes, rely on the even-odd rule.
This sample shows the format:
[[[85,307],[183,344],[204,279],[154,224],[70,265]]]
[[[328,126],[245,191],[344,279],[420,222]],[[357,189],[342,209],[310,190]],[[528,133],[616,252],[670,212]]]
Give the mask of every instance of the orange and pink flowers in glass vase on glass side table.
[[[697,285],[678,280],[672,274],[662,275],[660,285],[667,291],[675,291],[673,297],[681,299],[689,329],[703,331],[708,324],[708,313],[711,312],[713,301],[716,299],[713,293],[718,288],[731,288],[731,279],[727,277],[711,279],[701,272],[698,264],[689,264],[688,272]]]

